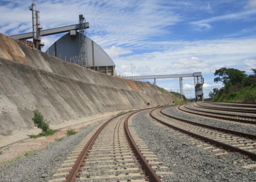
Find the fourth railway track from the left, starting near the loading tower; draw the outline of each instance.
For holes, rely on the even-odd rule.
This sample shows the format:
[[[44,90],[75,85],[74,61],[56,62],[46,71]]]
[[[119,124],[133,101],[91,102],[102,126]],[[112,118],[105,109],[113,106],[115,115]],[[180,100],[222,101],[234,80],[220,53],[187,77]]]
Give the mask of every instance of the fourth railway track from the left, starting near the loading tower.
[[[209,103],[207,103],[209,104]],[[253,109],[234,109],[234,108],[221,108],[221,107],[210,107],[210,106],[204,106],[197,103],[193,103],[194,107],[201,108],[201,109],[210,109],[210,110],[216,110],[216,111],[226,111],[226,112],[240,112],[240,113],[248,113],[248,114],[256,114],[256,110]]]

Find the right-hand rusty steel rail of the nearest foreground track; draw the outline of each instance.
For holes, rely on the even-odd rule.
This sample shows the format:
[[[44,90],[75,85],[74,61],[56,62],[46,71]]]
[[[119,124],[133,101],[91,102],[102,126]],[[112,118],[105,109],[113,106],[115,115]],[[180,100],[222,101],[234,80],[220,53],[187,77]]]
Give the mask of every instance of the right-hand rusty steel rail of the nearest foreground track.
[[[140,111],[137,111],[140,112]],[[143,154],[141,153],[140,149],[137,147],[137,144],[134,142],[131,133],[129,131],[128,128],[128,120],[129,118],[137,113],[134,112],[132,114],[130,114],[128,117],[126,117],[125,122],[124,122],[124,129],[125,129],[125,133],[127,136],[127,140],[130,143],[130,146],[133,150],[133,152],[135,153],[135,155],[137,156],[137,160],[139,161],[139,163],[142,165],[142,169],[144,169],[146,171],[146,175],[148,176],[148,179],[150,181],[154,181],[154,182],[161,182],[160,178],[156,175],[156,172],[152,169],[152,167],[150,166],[150,164],[147,162],[147,160],[145,159],[145,157],[143,156]]]

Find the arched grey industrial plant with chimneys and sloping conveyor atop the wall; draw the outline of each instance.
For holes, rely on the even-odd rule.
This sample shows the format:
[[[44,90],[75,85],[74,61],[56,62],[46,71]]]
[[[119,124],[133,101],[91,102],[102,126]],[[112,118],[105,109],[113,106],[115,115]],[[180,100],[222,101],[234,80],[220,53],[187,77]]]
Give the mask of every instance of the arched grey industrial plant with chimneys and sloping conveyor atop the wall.
[[[12,35],[12,38],[19,39],[26,44],[29,43],[29,46],[41,50],[41,47],[44,46],[44,43],[41,41],[42,36],[68,32],[51,45],[46,52],[62,60],[101,73],[116,75],[113,60],[97,43],[86,36],[86,29],[89,28],[89,22],[85,21],[82,14],[79,15],[79,24],[42,30],[43,27],[40,25],[40,12],[36,11],[34,3],[31,4],[29,10],[32,11],[33,32]],[[27,41],[27,39],[30,38],[33,38],[33,43]]]

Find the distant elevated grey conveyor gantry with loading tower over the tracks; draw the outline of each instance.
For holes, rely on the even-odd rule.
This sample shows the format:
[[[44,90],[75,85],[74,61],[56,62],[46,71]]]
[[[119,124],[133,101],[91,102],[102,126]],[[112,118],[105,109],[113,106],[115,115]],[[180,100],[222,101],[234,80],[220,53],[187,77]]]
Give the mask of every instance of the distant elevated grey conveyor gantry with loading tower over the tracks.
[[[188,73],[188,74],[175,74],[175,75],[126,76],[124,78],[129,80],[154,79],[155,85],[156,85],[156,79],[159,79],[159,78],[180,78],[180,94],[182,98],[182,95],[184,95],[183,94],[183,77],[194,77],[196,101],[203,101],[204,100],[203,99],[204,79],[201,72]]]

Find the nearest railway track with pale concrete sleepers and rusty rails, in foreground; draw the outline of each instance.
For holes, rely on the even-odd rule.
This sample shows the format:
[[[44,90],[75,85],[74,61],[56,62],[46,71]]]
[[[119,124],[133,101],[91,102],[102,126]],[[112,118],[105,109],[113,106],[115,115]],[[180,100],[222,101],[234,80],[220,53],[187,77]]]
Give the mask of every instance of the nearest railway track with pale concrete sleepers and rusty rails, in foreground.
[[[95,128],[61,164],[49,182],[157,182],[173,175],[131,125],[129,118],[143,110],[118,115]]]

